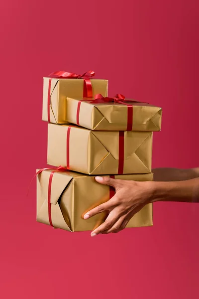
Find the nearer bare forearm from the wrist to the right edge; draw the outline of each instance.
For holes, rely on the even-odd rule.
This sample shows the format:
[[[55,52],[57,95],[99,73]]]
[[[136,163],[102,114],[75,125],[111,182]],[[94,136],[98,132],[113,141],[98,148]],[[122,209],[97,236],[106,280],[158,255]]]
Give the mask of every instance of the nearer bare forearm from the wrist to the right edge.
[[[155,201],[199,202],[199,177],[186,181],[153,182]]]

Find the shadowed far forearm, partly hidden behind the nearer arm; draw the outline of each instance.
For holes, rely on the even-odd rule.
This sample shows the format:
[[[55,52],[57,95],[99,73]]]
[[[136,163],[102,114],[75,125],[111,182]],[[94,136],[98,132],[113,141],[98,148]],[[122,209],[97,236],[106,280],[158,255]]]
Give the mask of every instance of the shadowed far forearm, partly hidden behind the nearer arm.
[[[199,167],[190,169],[154,168],[154,181],[183,181],[199,177]]]

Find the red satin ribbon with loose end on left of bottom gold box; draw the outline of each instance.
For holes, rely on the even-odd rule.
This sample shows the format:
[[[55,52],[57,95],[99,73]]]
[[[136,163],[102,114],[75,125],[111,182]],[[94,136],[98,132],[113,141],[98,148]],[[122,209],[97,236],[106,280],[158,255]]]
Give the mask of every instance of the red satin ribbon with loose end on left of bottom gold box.
[[[52,217],[51,217],[51,186],[52,186],[53,174],[55,172],[65,172],[65,171],[69,171],[69,170],[63,166],[59,166],[57,168],[42,168],[36,172],[36,174],[34,175],[34,177],[31,180],[31,182],[33,181],[35,176],[37,176],[39,173],[41,173],[44,170],[52,170],[50,177],[49,177],[49,181],[48,181],[48,219],[49,219],[50,225],[53,226]],[[31,184],[31,182],[30,182],[30,184]],[[30,187],[30,185],[29,185],[29,187]],[[29,190],[29,187],[28,187],[28,190]]]

